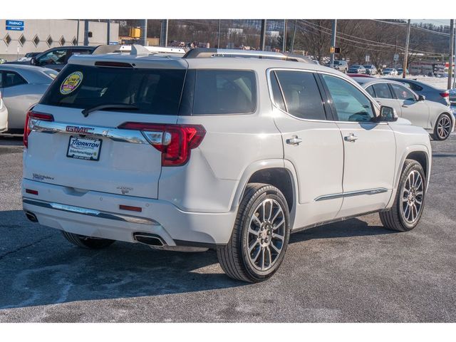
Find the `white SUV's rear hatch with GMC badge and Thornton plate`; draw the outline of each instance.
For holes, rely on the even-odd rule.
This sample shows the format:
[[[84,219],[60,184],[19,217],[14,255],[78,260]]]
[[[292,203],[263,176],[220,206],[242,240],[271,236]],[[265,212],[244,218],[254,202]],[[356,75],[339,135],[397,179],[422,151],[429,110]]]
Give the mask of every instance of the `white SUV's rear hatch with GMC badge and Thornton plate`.
[[[187,63],[137,59],[76,58],[61,71],[28,113],[24,178],[157,198],[162,165],[185,162],[181,140],[195,143],[198,128],[176,125]]]

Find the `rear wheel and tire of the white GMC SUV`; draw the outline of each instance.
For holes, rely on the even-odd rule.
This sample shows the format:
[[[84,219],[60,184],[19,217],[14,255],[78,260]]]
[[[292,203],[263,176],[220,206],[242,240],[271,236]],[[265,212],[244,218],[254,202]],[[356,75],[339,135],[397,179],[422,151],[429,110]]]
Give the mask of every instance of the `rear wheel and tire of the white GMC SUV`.
[[[220,266],[240,281],[269,279],[284,259],[289,237],[289,207],[281,191],[267,184],[248,184],[231,239],[217,247]]]

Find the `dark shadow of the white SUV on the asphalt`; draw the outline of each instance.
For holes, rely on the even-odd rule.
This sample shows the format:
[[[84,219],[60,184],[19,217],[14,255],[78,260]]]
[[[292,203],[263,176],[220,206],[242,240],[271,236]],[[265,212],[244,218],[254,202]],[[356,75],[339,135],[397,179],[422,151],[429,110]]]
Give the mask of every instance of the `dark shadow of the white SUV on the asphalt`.
[[[389,232],[351,219],[292,234],[291,243]],[[165,252],[125,242],[81,249],[58,230],[28,222],[21,210],[0,212],[0,309],[236,286],[261,284],[229,279],[212,250]]]

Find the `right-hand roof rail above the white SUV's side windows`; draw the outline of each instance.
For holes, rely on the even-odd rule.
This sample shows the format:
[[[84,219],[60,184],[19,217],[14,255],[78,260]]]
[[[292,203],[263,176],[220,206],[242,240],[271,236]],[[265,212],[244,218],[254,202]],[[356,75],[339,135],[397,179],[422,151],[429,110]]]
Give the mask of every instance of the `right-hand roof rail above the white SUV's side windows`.
[[[282,61],[295,61],[310,63],[310,59],[296,53],[281,53],[271,51],[235,50],[225,48],[194,48],[182,58],[212,58],[212,57],[251,57],[265,59],[279,59]]]

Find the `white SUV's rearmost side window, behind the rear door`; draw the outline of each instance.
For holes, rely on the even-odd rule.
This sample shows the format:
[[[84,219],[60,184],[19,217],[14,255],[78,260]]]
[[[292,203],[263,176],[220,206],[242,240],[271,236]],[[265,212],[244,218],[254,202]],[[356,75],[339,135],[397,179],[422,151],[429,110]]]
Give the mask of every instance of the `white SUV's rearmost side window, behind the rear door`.
[[[253,71],[197,70],[193,115],[248,114],[257,107]]]

